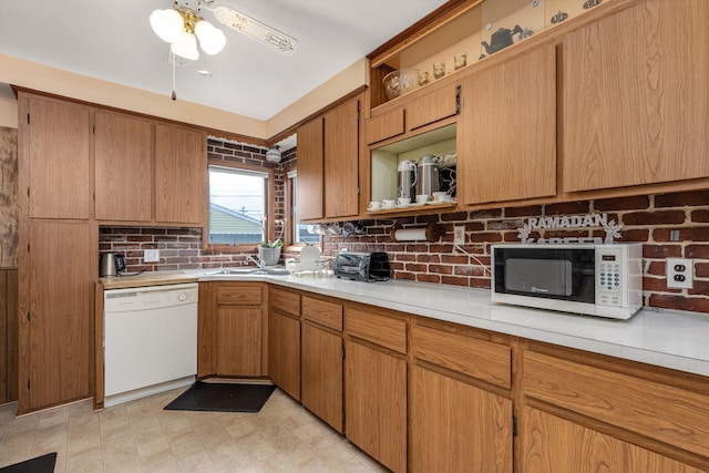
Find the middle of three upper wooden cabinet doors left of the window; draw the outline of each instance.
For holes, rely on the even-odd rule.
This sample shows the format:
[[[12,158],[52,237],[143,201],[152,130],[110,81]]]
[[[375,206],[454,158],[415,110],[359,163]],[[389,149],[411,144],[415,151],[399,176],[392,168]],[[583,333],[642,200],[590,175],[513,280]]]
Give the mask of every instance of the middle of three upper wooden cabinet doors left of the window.
[[[95,112],[95,217],[150,222],[153,127],[144,119]]]

